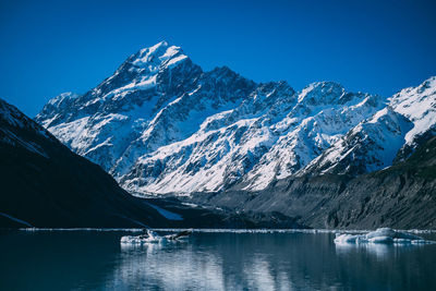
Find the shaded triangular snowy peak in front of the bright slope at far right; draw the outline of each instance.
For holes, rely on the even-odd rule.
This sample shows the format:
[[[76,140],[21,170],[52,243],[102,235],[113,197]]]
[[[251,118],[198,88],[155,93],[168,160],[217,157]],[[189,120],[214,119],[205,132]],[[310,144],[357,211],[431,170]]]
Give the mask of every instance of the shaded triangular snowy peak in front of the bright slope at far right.
[[[384,108],[350,130],[299,174],[358,175],[389,167],[412,128],[407,118]]]

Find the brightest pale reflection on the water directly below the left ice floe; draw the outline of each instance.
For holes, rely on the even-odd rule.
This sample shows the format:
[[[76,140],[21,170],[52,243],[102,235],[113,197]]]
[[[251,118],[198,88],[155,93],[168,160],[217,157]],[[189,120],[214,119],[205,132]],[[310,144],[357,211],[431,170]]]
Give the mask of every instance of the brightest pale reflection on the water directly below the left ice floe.
[[[215,255],[193,252],[187,243],[123,246],[120,264],[108,278],[106,287],[222,290],[220,266],[221,262]]]

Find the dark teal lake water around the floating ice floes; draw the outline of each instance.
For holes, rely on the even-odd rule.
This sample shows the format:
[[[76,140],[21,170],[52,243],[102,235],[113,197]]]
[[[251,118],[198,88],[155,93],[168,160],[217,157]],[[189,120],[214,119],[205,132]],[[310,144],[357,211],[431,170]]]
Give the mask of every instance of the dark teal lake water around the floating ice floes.
[[[122,246],[126,234],[1,231],[0,290],[436,290],[436,244],[194,232],[187,242]]]

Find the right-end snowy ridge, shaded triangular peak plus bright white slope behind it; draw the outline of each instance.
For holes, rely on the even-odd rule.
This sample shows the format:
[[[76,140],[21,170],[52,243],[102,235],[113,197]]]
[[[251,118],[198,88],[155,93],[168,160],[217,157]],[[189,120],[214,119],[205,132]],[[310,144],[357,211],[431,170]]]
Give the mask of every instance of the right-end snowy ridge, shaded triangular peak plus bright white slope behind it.
[[[405,158],[413,153],[421,136],[435,135],[435,128],[436,77],[431,77],[388,98],[386,108],[351,129],[298,174],[358,175],[389,167],[397,155]]]

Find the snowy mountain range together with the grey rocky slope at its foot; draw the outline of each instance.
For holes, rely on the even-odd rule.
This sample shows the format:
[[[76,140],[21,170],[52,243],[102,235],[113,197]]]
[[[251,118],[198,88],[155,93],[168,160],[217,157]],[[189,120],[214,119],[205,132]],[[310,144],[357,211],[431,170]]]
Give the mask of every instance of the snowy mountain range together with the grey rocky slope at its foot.
[[[436,77],[389,98],[295,92],[161,41],[35,120],[134,196],[314,228],[436,226]]]

